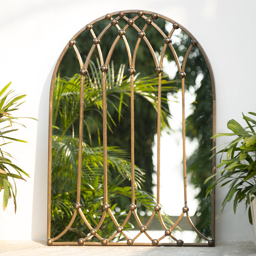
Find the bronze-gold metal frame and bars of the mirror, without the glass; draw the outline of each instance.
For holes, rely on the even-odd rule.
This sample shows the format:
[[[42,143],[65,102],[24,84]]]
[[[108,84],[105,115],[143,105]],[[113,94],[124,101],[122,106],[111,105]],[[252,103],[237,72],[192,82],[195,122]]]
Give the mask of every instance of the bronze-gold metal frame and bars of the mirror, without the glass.
[[[135,16],[133,19],[128,19],[125,14],[126,13],[134,13]],[[146,16],[147,15],[147,16]],[[116,18],[113,18],[113,16],[116,16]],[[145,19],[145,26],[143,28],[143,30],[140,30],[136,24],[135,21],[138,18],[144,18]],[[158,17],[170,22],[173,26],[173,28],[171,29],[171,32],[169,35],[165,35],[164,32],[158,27],[157,24],[154,23],[154,20],[157,19]],[[100,35],[97,37],[93,31],[93,25],[96,24],[97,22],[103,20],[103,19],[107,19],[110,21],[110,23],[103,29],[103,31],[100,33]],[[118,25],[118,20],[119,19],[124,19],[126,20],[127,24],[121,28]],[[156,54],[152,48],[152,46],[150,45],[149,40],[146,37],[146,28],[149,25],[153,25],[155,27],[155,29],[158,30],[158,32],[160,33],[160,35],[162,36],[162,38],[164,39],[164,45],[163,45],[163,50],[162,50],[162,54],[160,56],[160,61],[158,62]],[[118,36],[116,37],[116,39],[114,40],[109,54],[106,58],[106,61],[103,60],[103,56],[102,56],[102,52],[100,49],[100,39],[103,37],[103,35],[105,34],[105,32],[110,28],[110,26],[116,26],[116,28],[118,29]],[[132,55],[130,48],[129,48],[129,44],[127,42],[127,39],[125,37],[125,31],[129,26],[133,26],[137,31],[138,31],[138,40],[134,49],[134,54]],[[80,53],[75,45],[75,38],[78,37],[83,31],[85,31],[85,29],[90,30],[94,40],[94,45],[92,46],[85,63],[83,63],[82,58],[80,56]],[[178,59],[178,56],[175,52],[175,49],[172,47],[171,45],[171,36],[174,32],[175,29],[182,29],[186,34],[189,35],[189,37],[192,38],[191,41],[191,45],[189,47],[189,49],[186,52],[186,55],[184,57],[183,60],[183,65],[181,66],[180,61]],[[128,59],[129,59],[129,73],[131,75],[131,163],[132,163],[132,179],[131,179],[131,187],[132,187],[132,199],[131,199],[131,205],[129,207],[129,212],[128,215],[125,219],[125,221],[120,224],[118,223],[118,221],[115,219],[110,206],[108,205],[108,187],[107,187],[107,96],[106,96],[106,85],[105,85],[105,73],[108,70],[108,66],[110,63],[110,59],[111,56],[113,54],[113,50],[115,49],[115,46],[117,45],[119,40],[124,41],[125,43],[125,47],[128,53]],[[179,76],[181,78],[182,81],[182,109],[183,109],[183,116],[182,116],[182,134],[183,134],[183,180],[184,180],[184,207],[181,210],[182,213],[180,215],[180,217],[178,218],[178,220],[174,223],[174,225],[171,228],[168,228],[165,223],[162,220],[161,217],[161,207],[160,207],[160,126],[161,126],[161,120],[160,120],[160,111],[161,111],[161,104],[158,104],[158,120],[157,120],[157,205],[154,207],[154,211],[152,213],[152,216],[150,217],[150,219],[147,221],[147,223],[145,225],[142,224],[141,220],[139,219],[139,216],[136,213],[136,205],[135,205],[135,192],[134,192],[134,74],[135,74],[135,61],[136,61],[136,54],[138,51],[138,47],[140,45],[141,40],[144,39],[148,48],[151,51],[153,60],[155,62],[155,66],[156,66],[156,72],[158,73],[158,102],[161,102],[161,77],[162,77],[162,64],[163,64],[163,59],[164,59],[164,55],[166,52],[167,47],[170,47],[172,54],[174,56],[174,59],[176,61],[177,67],[178,67],[178,72],[179,72]],[[78,174],[77,174],[77,199],[76,199],[76,203],[74,205],[74,212],[73,212],[73,217],[69,223],[69,225],[67,227],[64,228],[63,232],[61,232],[58,236],[51,238],[50,237],[50,219],[51,219],[51,160],[52,160],[52,155],[51,155],[51,147],[52,147],[52,140],[51,140],[51,134],[52,134],[52,103],[53,103],[53,89],[54,89],[54,81],[55,81],[55,77],[58,71],[58,68],[60,66],[61,60],[64,56],[64,54],[66,53],[67,49],[69,47],[73,47],[73,49],[75,50],[75,53],[77,55],[79,64],[80,64],[80,73],[81,73],[81,91],[80,91],[80,123],[79,123],[79,155],[78,155]],[[52,75],[52,79],[51,79],[51,85],[50,85],[50,99],[49,99],[49,163],[48,163],[48,222],[47,222],[47,244],[48,245],[168,245],[168,246],[173,246],[173,245],[178,245],[178,246],[185,246],[185,245],[189,245],[189,246],[195,246],[195,245],[201,245],[201,246],[214,246],[214,239],[215,239],[215,231],[214,231],[214,212],[215,212],[215,207],[214,207],[214,201],[215,201],[215,192],[213,191],[212,194],[212,239],[208,239],[207,237],[205,237],[204,235],[202,235],[196,228],[195,225],[193,224],[189,213],[188,213],[188,206],[187,206],[187,174],[186,174],[186,155],[185,155],[185,110],[184,110],[184,100],[185,100],[185,88],[184,88],[184,84],[185,84],[185,66],[186,66],[186,62],[189,56],[189,53],[191,51],[191,49],[193,47],[198,47],[199,50],[201,51],[207,67],[208,67],[208,71],[209,71],[209,75],[210,75],[210,80],[211,80],[211,85],[212,85],[212,98],[213,98],[213,134],[215,134],[215,85],[214,85],[214,78],[213,78],[213,73],[212,73],[212,69],[211,69],[211,65],[208,61],[207,55],[205,53],[205,51],[203,50],[203,48],[201,47],[201,45],[197,42],[197,40],[195,39],[195,37],[189,32],[187,31],[181,24],[178,24],[176,22],[174,22],[173,20],[160,15],[158,13],[154,13],[154,12],[148,12],[148,11],[138,11],[138,10],[129,10],[129,11],[123,11],[123,12],[113,12],[113,13],[109,13],[106,16],[102,16],[96,20],[94,20],[93,22],[91,22],[90,24],[87,24],[84,28],[82,28],[79,32],[77,32],[69,41],[69,43],[65,46],[65,48],[63,49],[61,56],[59,57],[57,64],[55,66],[53,75]],[[102,214],[102,218],[98,223],[97,227],[92,227],[89,222],[87,221],[82,209],[81,209],[81,204],[80,204],[80,192],[81,192],[81,168],[82,168],[82,138],[83,138],[83,110],[84,110],[84,77],[87,73],[87,67],[89,64],[89,60],[94,52],[94,50],[97,49],[98,50],[98,54],[99,54],[99,59],[100,59],[100,65],[101,65],[101,72],[102,72],[102,81],[103,81],[103,163],[104,163],[104,204],[102,206],[103,209],[103,214]],[[213,140],[213,147],[215,146],[215,140]],[[213,152],[214,153],[214,152]],[[212,163],[212,173],[215,173],[215,159],[213,158],[213,163]],[[100,228],[100,226],[102,225],[106,214],[109,213],[110,218],[112,219],[112,221],[115,223],[116,225],[116,232],[109,237],[108,239],[106,238],[102,238],[99,236],[99,234],[97,233],[98,229]],[[88,236],[86,238],[80,238],[78,239],[78,242],[57,242],[57,240],[65,233],[68,231],[68,229],[71,227],[71,225],[73,224],[73,221],[76,218],[76,215],[80,214],[82,219],[85,222],[85,225],[90,229],[90,234],[88,234]],[[131,215],[134,215],[134,218],[136,219],[136,222],[138,223],[139,227],[140,227],[140,231],[138,232],[138,234],[133,238],[129,238],[124,232],[123,232],[123,228],[125,226],[125,224],[127,223],[128,219],[131,217]],[[161,236],[158,239],[152,239],[151,236],[148,234],[148,232],[146,231],[146,227],[149,225],[149,223],[152,221],[152,219],[154,218],[154,216],[158,214],[159,217],[159,221],[163,227],[164,233],[163,236]],[[180,223],[181,219],[183,218],[183,216],[186,216],[190,225],[192,226],[192,228],[195,230],[195,232],[203,239],[205,239],[208,243],[183,243],[182,240],[178,240],[176,239],[173,234],[172,231],[175,229],[175,227],[177,227],[177,225]],[[122,235],[125,237],[125,239],[127,240],[126,243],[113,243],[110,242],[117,234],[122,233]],[[146,236],[148,237],[148,239],[151,241],[151,243],[134,243],[136,238],[138,236],[140,236],[142,233],[145,233]],[[92,236],[96,236],[99,239],[99,242],[87,242],[87,240],[92,237]],[[176,243],[161,243],[160,241],[165,238],[166,236],[171,236],[171,238],[176,241]]]

